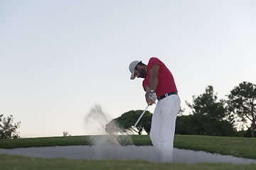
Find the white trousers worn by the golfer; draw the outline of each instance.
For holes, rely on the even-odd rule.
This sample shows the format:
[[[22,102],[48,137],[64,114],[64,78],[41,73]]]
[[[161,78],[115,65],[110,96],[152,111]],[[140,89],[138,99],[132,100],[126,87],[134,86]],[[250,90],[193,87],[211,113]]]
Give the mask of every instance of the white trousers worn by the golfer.
[[[178,95],[167,96],[156,103],[151,121],[150,139],[160,162],[172,162],[176,116],[181,100]]]

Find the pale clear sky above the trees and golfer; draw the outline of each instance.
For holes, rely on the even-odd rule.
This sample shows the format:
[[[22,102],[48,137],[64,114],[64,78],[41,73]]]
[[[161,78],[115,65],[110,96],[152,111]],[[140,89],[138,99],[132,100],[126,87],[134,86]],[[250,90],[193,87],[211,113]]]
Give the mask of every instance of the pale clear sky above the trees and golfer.
[[[256,1],[0,0],[0,114],[21,137],[86,135],[98,104],[117,118],[144,110],[129,63],[158,57],[181,108],[211,85],[226,98],[256,84]],[[154,112],[154,106],[148,111]]]

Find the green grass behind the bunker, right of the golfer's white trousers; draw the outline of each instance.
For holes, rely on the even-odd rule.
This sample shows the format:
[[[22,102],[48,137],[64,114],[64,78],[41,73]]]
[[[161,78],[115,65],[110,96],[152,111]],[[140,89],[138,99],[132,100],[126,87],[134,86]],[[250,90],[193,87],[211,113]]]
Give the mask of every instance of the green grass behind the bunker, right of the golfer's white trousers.
[[[256,159],[255,138],[176,135],[174,147]]]

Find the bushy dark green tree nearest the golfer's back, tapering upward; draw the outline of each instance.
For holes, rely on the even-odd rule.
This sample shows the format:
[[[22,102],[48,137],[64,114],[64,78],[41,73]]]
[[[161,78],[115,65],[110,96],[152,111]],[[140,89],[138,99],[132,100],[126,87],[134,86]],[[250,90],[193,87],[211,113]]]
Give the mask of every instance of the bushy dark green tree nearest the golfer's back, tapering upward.
[[[186,118],[188,134],[229,136],[235,132],[233,120],[229,118],[225,108],[225,101],[217,99],[213,86],[208,86],[205,93],[193,96],[192,104],[187,103],[193,112],[193,116]]]

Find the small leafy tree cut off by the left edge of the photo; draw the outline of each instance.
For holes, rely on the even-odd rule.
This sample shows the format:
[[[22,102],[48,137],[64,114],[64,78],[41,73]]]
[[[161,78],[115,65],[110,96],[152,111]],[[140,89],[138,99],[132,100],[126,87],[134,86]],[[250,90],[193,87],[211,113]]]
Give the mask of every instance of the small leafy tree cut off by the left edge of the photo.
[[[13,115],[7,118],[2,118],[0,115],[0,139],[18,138],[17,129],[20,127],[21,122],[14,123]]]

